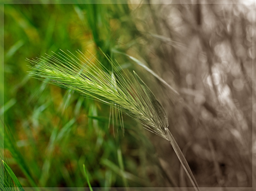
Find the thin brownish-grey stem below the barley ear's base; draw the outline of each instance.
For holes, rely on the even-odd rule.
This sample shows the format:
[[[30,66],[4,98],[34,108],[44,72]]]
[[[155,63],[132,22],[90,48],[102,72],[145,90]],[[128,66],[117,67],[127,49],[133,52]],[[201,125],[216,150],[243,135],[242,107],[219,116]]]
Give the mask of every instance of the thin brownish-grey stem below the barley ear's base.
[[[196,179],[192,173],[192,171],[189,168],[188,162],[186,160],[186,158],[184,157],[182,151],[180,150],[179,145],[177,144],[177,142],[175,141],[174,137],[172,136],[172,133],[169,131],[168,128],[164,128],[165,133],[168,137],[168,140],[170,141],[172,148],[174,149],[176,155],[178,156],[180,163],[182,165],[182,167],[184,168],[185,172],[188,175],[189,180],[191,181],[193,187],[195,188],[196,191],[200,191]]]

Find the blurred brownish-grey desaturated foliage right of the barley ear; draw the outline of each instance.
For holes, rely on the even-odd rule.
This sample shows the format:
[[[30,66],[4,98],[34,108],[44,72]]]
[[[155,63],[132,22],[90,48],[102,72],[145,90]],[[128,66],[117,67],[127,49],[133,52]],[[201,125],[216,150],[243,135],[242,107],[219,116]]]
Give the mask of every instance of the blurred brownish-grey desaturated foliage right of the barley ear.
[[[168,89],[159,95],[198,184],[251,187],[256,180],[255,6],[196,3],[135,9],[147,39],[140,55],[147,55],[149,66],[180,92],[181,103],[174,105]],[[163,145],[155,145],[159,157],[170,160],[164,149],[160,152]],[[175,181],[186,186],[184,173],[176,174]]]

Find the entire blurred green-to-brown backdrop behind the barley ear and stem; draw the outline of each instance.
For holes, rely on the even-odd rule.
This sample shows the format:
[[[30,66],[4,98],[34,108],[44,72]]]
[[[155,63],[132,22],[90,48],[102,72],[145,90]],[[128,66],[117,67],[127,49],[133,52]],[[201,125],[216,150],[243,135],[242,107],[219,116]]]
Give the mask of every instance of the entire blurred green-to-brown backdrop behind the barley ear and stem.
[[[136,71],[200,187],[255,184],[255,2],[36,3],[4,4],[4,154],[23,187],[87,187],[83,164],[92,187],[191,186],[168,141],[127,116],[124,135],[108,128],[108,106],[29,76],[26,58],[59,49]]]

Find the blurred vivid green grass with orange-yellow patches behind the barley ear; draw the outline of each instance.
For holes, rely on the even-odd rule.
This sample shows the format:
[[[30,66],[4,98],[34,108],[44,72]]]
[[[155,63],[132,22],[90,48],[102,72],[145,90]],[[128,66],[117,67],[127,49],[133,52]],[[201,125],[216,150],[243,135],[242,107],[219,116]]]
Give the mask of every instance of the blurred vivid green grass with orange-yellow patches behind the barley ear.
[[[5,130],[4,146],[5,152],[9,153],[10,167],[23,187],[87,186],[83,164],[90,173],[92,187],[151,186],[146,166],[152,161],[154,164],[158,162],[142,125],[125,115],[121,117],[114,108],[84,98],[73,90],[40,82],[28,74],[31,69],[26,57],[31,60],[44,53],[53,55],[52,51],[59,48],[70,52],[88,49],[93,54],[98,54],[98,48],[101,48],[112,59],[128,61],[125,56],[114,57],[111,53],[112,49],[121,50],[114,48],[120,33],[124,33],[123,43],[134,36],[121,27],[126,23],[132,26],[127,19],[130,14],[127,5],[93,5],[96,10],[108,12],[107,17],[104,12],[97,16],[99,22],[104,22],[102,31],[90,24],[93,16],[86,11],[91,10],[90,6],[4,5],[5,105],[1,107],[1,114],[4,114],[8,130]],[[115,35],[106,35],[112,30],[110,23],[115,23],[111,25],[118,29]],[[111,71],[108,59],[99,55],[96,57],[105,64],[102,68]],[[109,77],[114,80],[111,75]],[[112,90],[115,90],[114,86]],[[115,120],[116,117],[121,118],[121,122]],[[134,151],[138,154],[131,157],[130,153]],[[141,158],[141,152],[147,157]],[[102,162],[106,160],[109,163]],[[144,181],[127,179],[119,172]],[[153,174],[157,174],[159,180],[163,177],[159,168],[154,168]]]

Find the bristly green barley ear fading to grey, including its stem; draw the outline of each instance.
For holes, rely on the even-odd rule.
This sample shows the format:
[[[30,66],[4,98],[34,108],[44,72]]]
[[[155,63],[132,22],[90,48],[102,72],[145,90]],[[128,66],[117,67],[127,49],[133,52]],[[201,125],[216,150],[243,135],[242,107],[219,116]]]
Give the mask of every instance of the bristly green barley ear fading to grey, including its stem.
[[[122,74],[118,70],[118,63],[116,65],[103,52],[113,71],[108,71],[90,52],[86,52],[90,58],[80,51],[77,53],[79,58],[62,51],[37,60],[27,59],[33,64],[30,74],[105,103],[115,109],[116,119],[122,120],[122,114],[126,114],[142,123],[145,129],[170,141],[193,186],[199,190],[184,155],[167,128],[168,119],[164,107],[140,77],[135,72],[135,77],[131,73],[129,76]],[[111,111],[114,117],[113,109]]]

